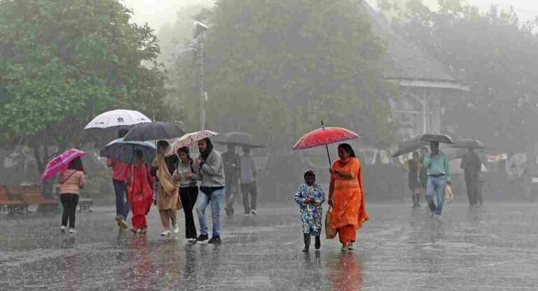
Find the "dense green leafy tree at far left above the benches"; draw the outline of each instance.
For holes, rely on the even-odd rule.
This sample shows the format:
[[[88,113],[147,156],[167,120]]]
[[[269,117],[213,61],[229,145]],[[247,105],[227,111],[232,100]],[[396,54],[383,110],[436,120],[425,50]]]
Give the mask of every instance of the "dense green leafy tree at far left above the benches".
[[[0,1],[1,146],[29,146],[41,171],[103,111],[163,114],[157,38],[130,13],[115,0]]]

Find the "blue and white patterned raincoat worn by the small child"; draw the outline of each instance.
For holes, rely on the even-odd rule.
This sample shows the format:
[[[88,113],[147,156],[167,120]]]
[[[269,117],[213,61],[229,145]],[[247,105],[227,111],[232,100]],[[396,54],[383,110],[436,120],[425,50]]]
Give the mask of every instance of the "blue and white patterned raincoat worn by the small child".
[[[314,199],[313,203],[305,203],[305,199]],[[322,232],[322,204],[325,201],[325,193],[322,187],[316,183],[308,185],[304,183],[295,194],[295,201],[299,204],[303,233],[319,236]]]

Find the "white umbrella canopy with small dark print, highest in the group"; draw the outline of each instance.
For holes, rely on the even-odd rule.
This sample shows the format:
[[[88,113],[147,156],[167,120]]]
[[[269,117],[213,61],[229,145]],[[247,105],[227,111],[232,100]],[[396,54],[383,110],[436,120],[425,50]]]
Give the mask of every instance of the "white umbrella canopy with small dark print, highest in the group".
[[[84,129],[104,129],[109,127],[138,125],[145,122],[151,122],[151,119],[138,111],[116,109],[97,115],[97,117],[90,121]]]

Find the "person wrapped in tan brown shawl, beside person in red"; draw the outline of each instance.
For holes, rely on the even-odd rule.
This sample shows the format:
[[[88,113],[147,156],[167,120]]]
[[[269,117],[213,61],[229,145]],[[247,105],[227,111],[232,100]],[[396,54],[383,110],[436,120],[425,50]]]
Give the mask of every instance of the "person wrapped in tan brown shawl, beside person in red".
[[[158,141],[157,156],[151,164],[151,175],[156,178],[156,205],[159,210],[160,222],[165,229],[160,234],[161,236],[179,233],[177,225],[179,189],[177,183],[172,179],[172,174],[179,164],[179,158],[177,155],[165,157],[164,154],[169,148],[170,144],[167,141]]]

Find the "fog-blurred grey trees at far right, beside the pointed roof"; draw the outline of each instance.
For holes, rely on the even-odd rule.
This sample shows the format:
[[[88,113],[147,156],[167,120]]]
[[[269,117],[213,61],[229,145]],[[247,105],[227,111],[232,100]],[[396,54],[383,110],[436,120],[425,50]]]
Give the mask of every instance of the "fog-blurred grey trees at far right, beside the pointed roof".
[[[410,1],[394,26],[471,86],[467,96],[449,102],[446,123],[498,150],[537,143],[537,22],[522,23],[513,10],[496,6],[481,13],[460,0],[439,6],[432,11]]]

